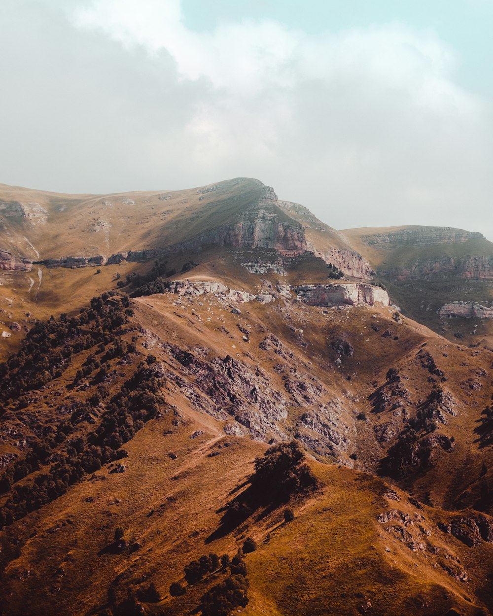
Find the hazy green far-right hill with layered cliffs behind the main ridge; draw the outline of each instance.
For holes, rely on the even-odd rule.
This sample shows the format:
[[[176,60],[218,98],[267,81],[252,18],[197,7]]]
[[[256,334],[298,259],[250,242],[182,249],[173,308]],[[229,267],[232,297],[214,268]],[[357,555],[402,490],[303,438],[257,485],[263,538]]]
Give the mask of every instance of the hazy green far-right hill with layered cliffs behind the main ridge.
[[[493,348],[493,244],[449,227],[346,229],[405,314],[450,341]],[[458,302],[458,305],[457,305]]]

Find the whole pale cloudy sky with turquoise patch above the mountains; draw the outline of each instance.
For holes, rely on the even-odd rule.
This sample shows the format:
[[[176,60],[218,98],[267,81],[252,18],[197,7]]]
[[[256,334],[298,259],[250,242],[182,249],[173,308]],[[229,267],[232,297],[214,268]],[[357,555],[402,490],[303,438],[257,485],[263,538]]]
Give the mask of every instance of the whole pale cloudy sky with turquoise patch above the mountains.
[[[0,182],[256,177],[493,241],[493,0],[0,0]]]

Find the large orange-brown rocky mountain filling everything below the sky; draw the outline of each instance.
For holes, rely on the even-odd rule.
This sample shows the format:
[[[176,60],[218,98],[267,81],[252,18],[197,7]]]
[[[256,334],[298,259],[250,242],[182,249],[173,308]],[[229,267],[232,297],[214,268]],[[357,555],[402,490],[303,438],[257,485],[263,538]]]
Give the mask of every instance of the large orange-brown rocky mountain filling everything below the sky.
[[[250,179],[0,208],[1,614],[493,612],[491,351],[388,274],[486,240]]]

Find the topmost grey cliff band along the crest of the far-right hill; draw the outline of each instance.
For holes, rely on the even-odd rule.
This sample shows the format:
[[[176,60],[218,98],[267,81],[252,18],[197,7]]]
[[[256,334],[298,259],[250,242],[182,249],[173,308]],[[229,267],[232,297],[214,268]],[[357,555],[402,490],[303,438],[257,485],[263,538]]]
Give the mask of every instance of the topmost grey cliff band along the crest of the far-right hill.
[[[482,233],[453,229],[452,227],[406,227],[386,233],[363,235],[362,240],[368,246],[378,244],[410,244],[413,246],[430,246],[433,244],[454,244],[467,240],[484,239]]]

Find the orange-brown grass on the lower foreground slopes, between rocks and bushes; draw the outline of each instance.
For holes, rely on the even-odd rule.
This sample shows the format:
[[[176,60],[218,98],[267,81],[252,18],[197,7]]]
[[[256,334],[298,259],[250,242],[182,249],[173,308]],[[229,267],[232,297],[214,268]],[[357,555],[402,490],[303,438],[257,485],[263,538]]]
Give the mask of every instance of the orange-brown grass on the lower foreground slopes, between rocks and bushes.
[[[142,349],[144,342],[152,352],[169,362],[156,344],[157,334],[164,341],[180,346],[205,345],[212,355],[237,354],[243,361],[259,365],[269,373],[272,383],[277,378],[281,389],[282,379],[269,371],[275,355],[258,350],[259,341],[270,331],[282,336],[285,344],[295,351],[298,371],[308,369],[317,376],[325,375],[322,378],[329,388],[329,397],[346,392],[348,407],[352,408],[352,411],[348,408],[350,415],[361,408],[368,412],[365,400],[373,391],[370,381],[375,378],[381,382],[382,373],[389,365],[411,362],[423,341],[428,342],[434,355],[448,351],[449,358],[437,361],[446,369],[450,385],[465,378],[486,359],[483,354],[470,357],[470,352],[447,347],[446,342],[429,330],[410,321],[392,325],[387,310],[332,310],[324,315],[321,309],[303,305],[294,304],[292,309],[284,307],[283,311],[252,303],[243,306],[242,315],[232,315],[214,302],[209,304],[206,298],[200,298],[203,306],[197,302],[173,306],[173,299],[173,296],[152,296],[136,301],[137,322],[145,327],[139,348]],[[212,319],[208,317],[208,307],[214,311],[211,321],[207,321],[207,318]],[[377,318],[372,319],[372,315]],[[250,344],[241,341],[237,323],[250,325]],[[380,333],[369,328],[374,323],[396,328],[399,341],[381,338]],[[308,347],[299,346],[288,324],[304,329]],[[224,333],[222,327],[230,334]],[[359,336],[365,328],[368,333]],[[344,358],[339,370],[333,367],[327,346],[327,341],[338,332],[348,334],[356,349],[353,357]],[[365,342],[366,337],[370,342]],[[467,367],[459,366],[461,355],[467,360]],[[168,366],[176,370],[176,364],[171,362]],[[60,386],[68,384],[76,367],[71,367],[59,383],[47,387],[46,398],[39,398],[33,411],[37,409],[35,412],[40,416],[52,412],[49,408],[54,397],[58,391],[63,391]],[[405,368],[406,376],[414,381],[416,396],[425,391],[426,375],[422,372],[418,367]],[[346,380],[348,374],[356,375],[350,383]],[[75,392],[75,395],[84,397],[91,391]],[[475,394],[477,410],[471,415],[465,407],[461,408],[458,419],[447,426],[447,430],[457,436],[470,434],[465,440],[462,437],[462,449],[458,450],[454,463],[459,467],[463,460],[475,460],[468,469],[470,473],[471,468],[479,468],[480,464],[478,447],[472,442],[475,416],[481,410],[478,402],[484,398],[486,403],[489,393],[489,389],[485,389],[478,394],[479,398]],[[248,438],[221,437],[221,422],[199,413],[173,383],[166,387],[165,397],[168,413],[151,421],[125,445],[129,458],[125,461],[127,471],[124,474],[108,474],[110,468],[103,468],[67,495],[9,527],[4,539],[4,554],[15,556],[18,553],[18,556],[6,572],[7,614],[25,614],[23,606],[33,604],[39,607],[39,614],[52,614],[54,609],[67,615],[86,614],[92,607],[104,604],[108,586],[120,574],[123,574],[120,587],[137,587],[145,575],[147,580],[156,583],[161,596],[165,597],[169,583],[180,577],[182,567],[192,558],[209,551],[234,553],[245,535],[253,535],[261,543],[268,534],[270,540],[248,556],[251,605],[247,614],[356,614],[367,601],[378,606],[378,613],[383,614],[405,614],[410,609],[416,614],[440,614],[443,612],[439,610],[446,611],[452,605],[460,605],[467,614],[475,613],[474,604],[478,599],[473,595],[485,583],[486,573],[481,567],[491,557],[488,551],[491,548],[478,546],[473,554],[470,548],[442,535],[434,527],[433,545],[444,546],[447,554],[457,554],[464,561],[463,566],[471,579],[466,592],[462,582],[444,572],[440,560],[428,552],[414,553],[396,538],[391,538],[376,521],[386,508],[417,513],[405,504],[405,495],[401,494],[402,504],[387,502],[381,497],[385,488],[381,480],[350,469],[314,466],[327,487],[323,495],[296,504],[297,519],[292,524],[279,526],[281,513],[276,511],[262,521],[251,520],[237,537],[229,535],[206,544],[206,538],[218,526],[220,514],[216,512],[231,498],[229,493],[241,484],[251,469],[251,461],[265,446]],[[172,423],[173,405],[181,415],[179,426]],[[295,416],[299,413],[296,405],[291,413],[284,426],[288,431],[294,429]],[[377,419],[372,417],[371,421]],[[370,456],[374,456],[375,444],[364,432],[368,429],[371,434],[371,423],[368,426],[358,422],[358,428],[362,430],[358,457],[361,456],[361,464],[364,464],[365,458],[370,460]],[[202,429],[203,434],[190,439],[197,429]],[[165,435],[168,430],[171,434]],[[234,445],[221,449],[218,456],[207,457],[225,441]],[[176,459],[173,460],[169,453],[176,455]],[[457,480],[454,474],[444,472],[447,465],[450,459],[444,455],[441,464],[423,477],[425,487],[433,484],[436,500],[449,489],[450,480]],[[415,492],[420,490],[423,487],[420,488],[418,481]],[[92,502],[86,501],[89,497]],[[116,500],[121,502],[112,504]],[[152,510],[154,513],[149,515]],[[425,517],[430,518],[430,524],[448,515],[439,509],[426,511]],[[70,524],[67,524],[68,519]],[[130,541],[139,541],[142,548],[130,556],[99,554],[112,540],[113,530],[118,525],[124,527]],[[57,530],[51,532],[54,528]],[[46,559],[47,551],[49,559]],[[57,573],[60,566],[66,575]],[[184,598],[174,600],[173,609],[183,614],[195,609],[212,582],[200,583]],[[49,594],[44,593],[46,588]],[[465,593],[472,604],[464,599]],[[168,605],[166,601],[163,606]],[[69,604],[73,606],[71,611],[67,611]],[[438,611],[430,611],[430,606]],[[152,606],[148,609],[154,613]],[[328,609],[330,612],[324,612]]]

